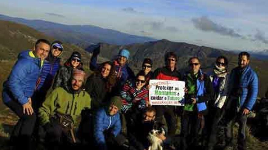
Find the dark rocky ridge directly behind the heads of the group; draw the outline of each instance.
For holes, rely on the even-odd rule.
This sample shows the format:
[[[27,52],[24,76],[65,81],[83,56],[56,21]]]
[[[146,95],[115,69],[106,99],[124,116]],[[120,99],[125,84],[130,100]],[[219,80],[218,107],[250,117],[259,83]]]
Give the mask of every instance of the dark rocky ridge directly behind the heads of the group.
[[[229,59],[229,70],[237,66],[238,54],[233,52],[224,51],[221,49],[210,48],[206,46],[197,46],[181,42],[171,42],[162,39],[154,42],[146,42],[143,44],[130,44],[130,45],[110,45],[106,43],[99,43],[91,45],[86,48],[86,51],[93,52],[94,48],[100,47],[100,56],[112,59],[119,52],[120,48],[127,48],[130,50],[131,59],[129,61],[132,69],[137,72],[143,62],[143,58],[151,58],[153,60],[153,69],[164,66],[164,54],[166,52],[175,52],[179,56],[178,69],[185,72],[188,68],[188,59],[192,56],[197,56],[201,59],[202,68],[206,72],[210,72],[213,63],[220,55],[224,55]],[[263,97],[266,88],[268,87],[268,61],[259,60],[256,58],[251,59],[251,66],[256,70],[259,75],[259,96]]]

